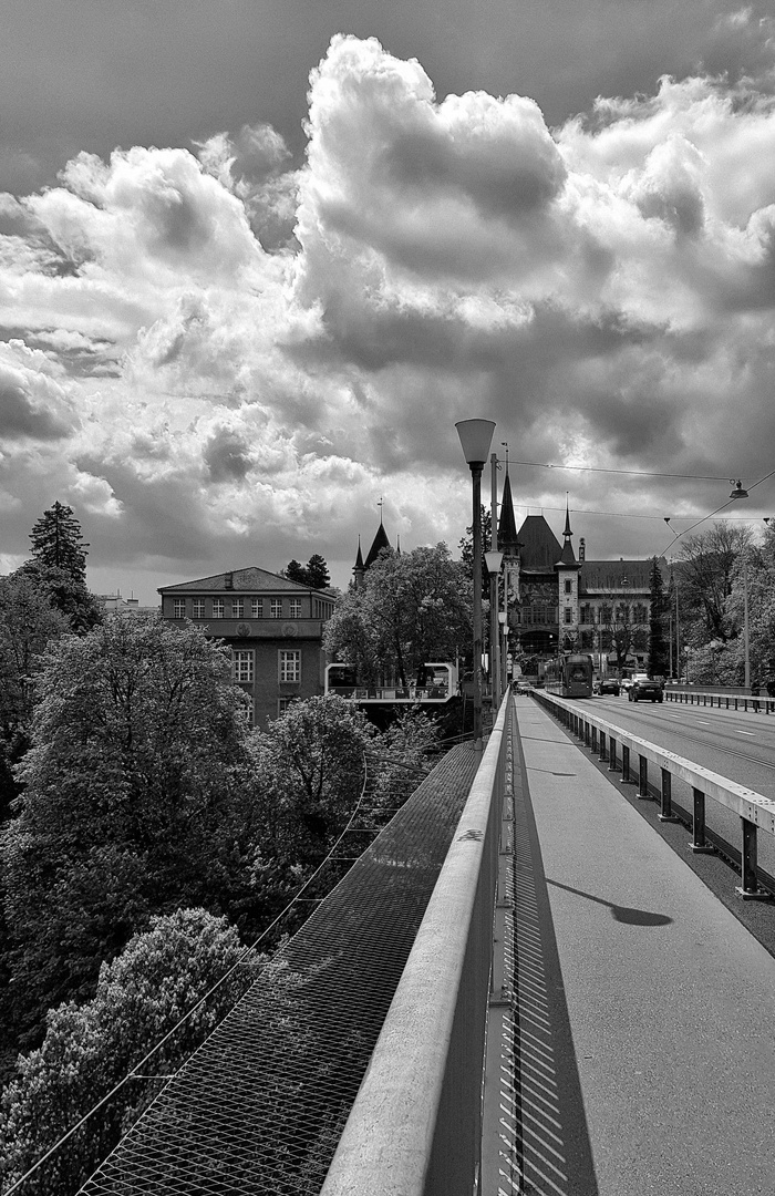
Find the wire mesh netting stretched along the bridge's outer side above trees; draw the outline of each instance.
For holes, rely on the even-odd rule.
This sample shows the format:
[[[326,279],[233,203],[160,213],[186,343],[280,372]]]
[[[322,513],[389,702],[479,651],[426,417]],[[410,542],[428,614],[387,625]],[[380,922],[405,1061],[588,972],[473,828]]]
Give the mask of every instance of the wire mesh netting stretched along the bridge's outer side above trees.
[[[468,797],[452,749],[80,1189],[319,1192]]]

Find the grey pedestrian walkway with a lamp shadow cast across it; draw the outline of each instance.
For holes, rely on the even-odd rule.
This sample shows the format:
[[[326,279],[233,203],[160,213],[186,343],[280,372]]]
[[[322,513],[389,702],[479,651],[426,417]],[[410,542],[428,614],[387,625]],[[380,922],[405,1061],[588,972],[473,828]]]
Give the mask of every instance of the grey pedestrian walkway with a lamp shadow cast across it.
[[[520,1190],[773,1196],[775,959],[616,774],[515,704]]]

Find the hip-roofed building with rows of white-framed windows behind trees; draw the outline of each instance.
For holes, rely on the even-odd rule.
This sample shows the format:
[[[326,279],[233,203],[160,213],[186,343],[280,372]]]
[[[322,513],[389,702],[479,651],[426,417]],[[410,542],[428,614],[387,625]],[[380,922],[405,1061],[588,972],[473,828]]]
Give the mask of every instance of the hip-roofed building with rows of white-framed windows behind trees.
[[[335,604],[325,590],[250,567],[161,586],[159,594],[164,618],[191,620],[231,647],[257,726],[294,698],[324,691],[323,628]]]

